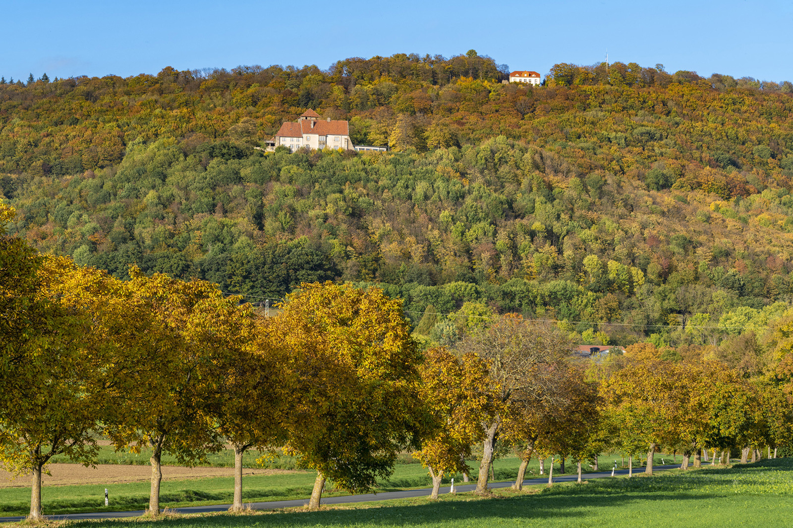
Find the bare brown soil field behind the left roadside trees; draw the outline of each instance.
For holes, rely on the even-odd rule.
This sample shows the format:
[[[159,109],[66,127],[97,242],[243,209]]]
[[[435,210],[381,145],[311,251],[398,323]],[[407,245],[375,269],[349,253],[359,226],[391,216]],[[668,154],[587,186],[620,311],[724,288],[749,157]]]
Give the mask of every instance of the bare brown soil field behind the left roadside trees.
[[[138,482],[151,479],[151,466],[102,464],[96,468],[86,468],[80,464],[50,464],[46,466],[52,475],[42,475],[45,486],[70,484],[108,484]],[[205,477],[233,477],[233,468],[196,467],[163,465],[163,481],[184,480]],[[285,469],[243,469],[243,475],[272,475],[293,473]],[[29,475],[13,478],[13,474],[0,469],[0,488],[26,488],[30,486]]]

